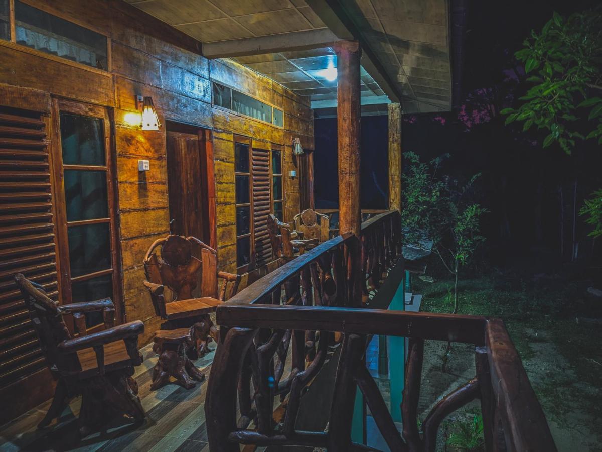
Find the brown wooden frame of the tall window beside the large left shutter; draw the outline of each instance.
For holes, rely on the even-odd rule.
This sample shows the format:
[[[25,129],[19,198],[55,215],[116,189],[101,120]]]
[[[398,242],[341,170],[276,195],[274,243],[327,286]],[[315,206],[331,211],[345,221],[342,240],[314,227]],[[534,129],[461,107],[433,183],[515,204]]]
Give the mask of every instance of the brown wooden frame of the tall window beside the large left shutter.
[[[86,104],[84,102],[67,101],[64,99],[52,99],[52,131],[51,131],[51,153],[52,153],[52,173],[54,177],[55,202],[57,213],[57,237],[58,237],[58,265],[60,268],[61,279],[61,300],[62,304],[73,303],[72,284],[81,281],[91,280],[93,278],[111,275],[113,295],[111,300],[115,306],[116,318],[120,322],[123,319],[122,312],[122,293],[120,284],[120,265],[119,265],[119,241],[117,239],[117,196],[115,186],[115,169],[113,158],[113,146],[111,142],[111,121],[108,109],[99,105]],[[101,119],[103,124],[104,146],[105,146],[105,165],[64,165],[63,148],[61,140],[61,119],[60,113],[72,113],[74,115],[88,116],[90,118]],[[107,218],[96,218],[79,221],[67,222],[67,204],[64,187],[64,171],[104,171],[107,178]],[[70,256],[69,256],[69,227],[84,226],[90,224],[108,224],[111,267],[99,271],[85,273],[76,277],[71,277]],[[87,328],[88,331],[95,331],[104,328],[101,323]]]

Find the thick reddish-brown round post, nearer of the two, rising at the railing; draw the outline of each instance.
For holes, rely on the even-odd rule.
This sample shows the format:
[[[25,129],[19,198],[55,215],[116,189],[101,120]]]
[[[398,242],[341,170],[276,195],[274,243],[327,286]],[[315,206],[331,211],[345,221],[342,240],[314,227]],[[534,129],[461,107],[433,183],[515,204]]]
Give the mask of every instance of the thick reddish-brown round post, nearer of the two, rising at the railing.
[[[339,232],[359,237],[361,210],[359,205],[359,140],[360,90],[359,43],[342,41],[337,52],[337,133]]]

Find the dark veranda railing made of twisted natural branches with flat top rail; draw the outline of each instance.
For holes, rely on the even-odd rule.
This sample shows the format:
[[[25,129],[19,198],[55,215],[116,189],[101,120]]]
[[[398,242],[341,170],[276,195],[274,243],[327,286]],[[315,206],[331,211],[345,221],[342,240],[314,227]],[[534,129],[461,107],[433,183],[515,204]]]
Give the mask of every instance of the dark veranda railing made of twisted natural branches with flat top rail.
[[[240,444],[367,450],[351,440],[356,386],[391,450],[434,451],[441,421],[475,398],[481,400],[486,450],[556,450],[503,323],[361,307],[368,284],[380,284],[399,256],[399,213],[365,222],[360,240],[361,246],[348,234],[321,243],[218,307],[220,343],[205,401],[211,451],[238,451]],[[410,338],[402,433],[365,366],[371,334]],[[421,433],[417,410],[425,339],[474,344],[476,376],[436,404]],[[302,394],[333,350],[338,365],[327,432],[299,431]],[[275,410],[278,395],[281,405]]]

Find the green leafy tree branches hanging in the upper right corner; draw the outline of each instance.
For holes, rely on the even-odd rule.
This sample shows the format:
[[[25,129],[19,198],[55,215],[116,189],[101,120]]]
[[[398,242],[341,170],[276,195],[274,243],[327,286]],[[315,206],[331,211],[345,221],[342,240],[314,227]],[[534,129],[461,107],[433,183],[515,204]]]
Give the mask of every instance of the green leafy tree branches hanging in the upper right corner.
[[[515,56],[532,87],[518,108],[501,110],[506,124],[547,130],[543,147],[557,142],[568,154],[577,139],[602,144],[602,8],[567,19],[554,13],[523,46]]]

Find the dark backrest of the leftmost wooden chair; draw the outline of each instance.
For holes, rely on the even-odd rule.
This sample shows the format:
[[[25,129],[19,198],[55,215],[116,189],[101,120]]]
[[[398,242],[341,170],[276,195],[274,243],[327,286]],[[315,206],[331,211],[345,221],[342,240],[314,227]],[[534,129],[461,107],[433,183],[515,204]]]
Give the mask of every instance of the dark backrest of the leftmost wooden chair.
[[[72,337],[63,321],[58,304],[46,296],[43,286],[29,281],[20,273],[15,275],[14,282],[19,287],[25,306],[29,310],[29,317],[46,362],[51,368],[60,367],[57,345]]]

